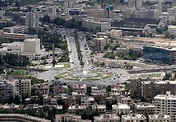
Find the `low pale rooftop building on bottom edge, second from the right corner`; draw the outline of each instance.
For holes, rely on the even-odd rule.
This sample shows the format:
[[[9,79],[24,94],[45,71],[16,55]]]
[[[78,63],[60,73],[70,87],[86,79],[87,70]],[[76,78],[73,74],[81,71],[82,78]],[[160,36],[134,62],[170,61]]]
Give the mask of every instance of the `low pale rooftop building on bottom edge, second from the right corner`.
[[[146,117],[143,114],[127,114],[122,115],[121,122],[147,122]]]

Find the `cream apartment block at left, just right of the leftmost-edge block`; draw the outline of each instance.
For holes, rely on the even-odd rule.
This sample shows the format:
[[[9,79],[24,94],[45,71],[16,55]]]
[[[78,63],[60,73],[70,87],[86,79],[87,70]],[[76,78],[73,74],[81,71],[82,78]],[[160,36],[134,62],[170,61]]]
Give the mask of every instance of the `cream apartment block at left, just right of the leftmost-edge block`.
[[[31,79],[14,80],[14,90],[22,97],[31,96]]]

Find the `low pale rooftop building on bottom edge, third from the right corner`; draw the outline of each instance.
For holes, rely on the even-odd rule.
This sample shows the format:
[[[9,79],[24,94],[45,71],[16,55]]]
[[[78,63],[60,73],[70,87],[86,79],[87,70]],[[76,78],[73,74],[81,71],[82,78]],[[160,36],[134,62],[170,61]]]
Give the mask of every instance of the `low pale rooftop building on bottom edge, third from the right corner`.
[[[101,114],[94,116],[94,122],[120,122],[120,118],[115,114]]]

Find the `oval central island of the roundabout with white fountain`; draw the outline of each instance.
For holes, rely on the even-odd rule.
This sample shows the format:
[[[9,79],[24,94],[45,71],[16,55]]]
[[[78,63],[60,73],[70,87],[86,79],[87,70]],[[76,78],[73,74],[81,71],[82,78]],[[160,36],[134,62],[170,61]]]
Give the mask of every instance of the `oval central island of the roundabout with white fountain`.
[[[91,81],[108,79],[114,76],[114,73],[97,70],[75,70],[59,73],[55,78],[69,81]]]

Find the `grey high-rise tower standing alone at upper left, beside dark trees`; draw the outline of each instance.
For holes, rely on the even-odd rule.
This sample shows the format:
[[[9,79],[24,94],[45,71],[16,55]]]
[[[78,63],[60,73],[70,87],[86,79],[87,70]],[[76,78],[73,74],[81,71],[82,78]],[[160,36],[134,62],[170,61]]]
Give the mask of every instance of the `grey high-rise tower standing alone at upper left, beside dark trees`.
[[[39,27],[39,14],[28,12],[26,13],[26,27],[28,28],[37,28]]]

